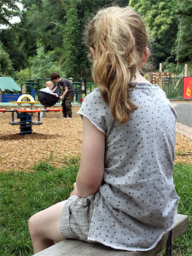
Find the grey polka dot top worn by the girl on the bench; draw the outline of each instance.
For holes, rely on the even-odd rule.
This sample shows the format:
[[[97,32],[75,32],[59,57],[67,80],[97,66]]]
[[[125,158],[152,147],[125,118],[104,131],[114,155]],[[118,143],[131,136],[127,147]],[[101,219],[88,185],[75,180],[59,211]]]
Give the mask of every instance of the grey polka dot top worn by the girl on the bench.
[[[125,124],[113,118],[98,88],[79,109],[106,136],[103,182],[90,196],[88,239],[145,251],[172,229],[177,215],[172,179],[176,112],[156,84],[137,84],[129,93],[138,108]]]

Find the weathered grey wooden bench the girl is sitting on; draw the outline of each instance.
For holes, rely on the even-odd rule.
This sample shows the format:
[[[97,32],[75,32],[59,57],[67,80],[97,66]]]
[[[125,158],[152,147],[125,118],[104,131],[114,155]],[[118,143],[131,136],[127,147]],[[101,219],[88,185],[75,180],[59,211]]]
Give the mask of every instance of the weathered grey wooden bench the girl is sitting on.
[[[189,218],[186,215],[177,214],[177,221],[171,231],[167,232],[154,247],[147,252],[127,252],[114,250],[101,244],[87,243],[79,240],[64,240],[56,243],[54,246],[45,249],[35,256],[154,256],[166,248],[166,256],[172,255],[172,241],[188,230]]]

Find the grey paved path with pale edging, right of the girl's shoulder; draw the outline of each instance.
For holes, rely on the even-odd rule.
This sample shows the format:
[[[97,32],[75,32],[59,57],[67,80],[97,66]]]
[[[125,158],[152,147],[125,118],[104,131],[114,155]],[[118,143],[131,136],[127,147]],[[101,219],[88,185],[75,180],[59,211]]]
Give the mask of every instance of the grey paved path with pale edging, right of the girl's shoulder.
[[[177,111],[177,133],[192,140],[192,102],[172,102],[172,106]]]

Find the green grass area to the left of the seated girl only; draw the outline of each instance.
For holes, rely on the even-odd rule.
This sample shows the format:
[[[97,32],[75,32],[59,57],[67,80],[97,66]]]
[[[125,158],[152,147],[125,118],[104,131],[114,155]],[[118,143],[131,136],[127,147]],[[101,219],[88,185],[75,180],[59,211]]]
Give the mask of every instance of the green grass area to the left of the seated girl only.
[[[69,197],[79,160],[67,163],[63,169],[41,162],[34,172],[0,172],[0,255],[32,255],[28,219]]]

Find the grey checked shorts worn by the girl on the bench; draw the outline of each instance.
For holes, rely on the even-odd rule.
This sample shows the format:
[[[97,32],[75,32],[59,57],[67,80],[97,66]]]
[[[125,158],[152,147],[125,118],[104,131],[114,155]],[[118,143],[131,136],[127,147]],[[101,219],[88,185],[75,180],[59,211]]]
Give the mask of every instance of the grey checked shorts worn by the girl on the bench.
[[[70,196],[61,213],[60,231],[63,238],[88,241],[94,204],[88,198]],[[92,241],[88,241],[92,242]]]

